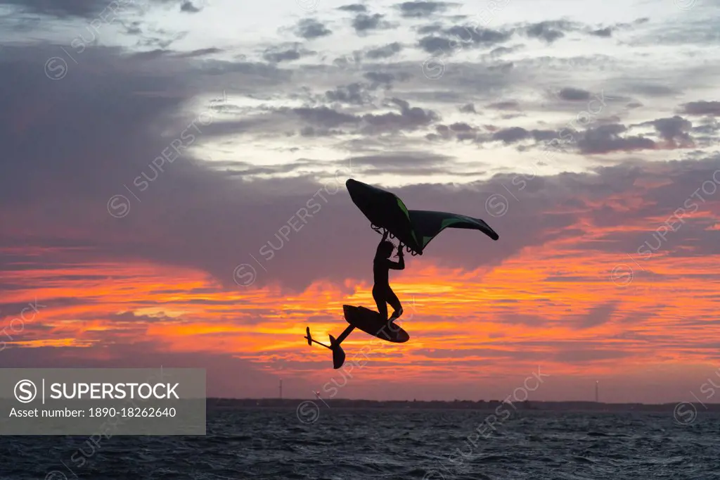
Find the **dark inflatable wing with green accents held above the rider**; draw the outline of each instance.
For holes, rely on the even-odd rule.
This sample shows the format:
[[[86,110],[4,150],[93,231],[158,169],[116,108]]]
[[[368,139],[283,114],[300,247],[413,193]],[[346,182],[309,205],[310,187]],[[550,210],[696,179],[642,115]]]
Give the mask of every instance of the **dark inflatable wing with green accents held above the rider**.
[[[408,210],[397,195],[354,179],[345,182],[353,203],[370,221],[376,231],[381,229],[397,237],[408,252],[423,254],[423,249],[445,228],[480,230],[493,240],[500,238],[480,218],[457,213]]]

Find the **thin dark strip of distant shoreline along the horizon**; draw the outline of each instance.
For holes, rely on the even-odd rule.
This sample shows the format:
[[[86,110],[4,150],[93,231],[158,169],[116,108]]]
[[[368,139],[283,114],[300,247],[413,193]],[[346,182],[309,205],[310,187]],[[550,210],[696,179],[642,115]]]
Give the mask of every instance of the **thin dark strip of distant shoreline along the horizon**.
[[[453,410],[495,410],[500,400],[490,401],[412,401],[412,400],[352,400],[352,399],[207,399],[211,409],[235,408],[297,408],[302,403],[312,401],[320,408],[362,408],[362,409],[453,409]],[[510,404],[510,402],[505,402]],[[691,406],[692,405],[692,406]],[[701,404],[698,402],[678,402],[673,404],[606,404],[595,401],[516,401],[513,406],[526,412],[675,412],[678,406],[697,412],[718,412],[720,404]],[[505,408],[508,408],[507,406]]]

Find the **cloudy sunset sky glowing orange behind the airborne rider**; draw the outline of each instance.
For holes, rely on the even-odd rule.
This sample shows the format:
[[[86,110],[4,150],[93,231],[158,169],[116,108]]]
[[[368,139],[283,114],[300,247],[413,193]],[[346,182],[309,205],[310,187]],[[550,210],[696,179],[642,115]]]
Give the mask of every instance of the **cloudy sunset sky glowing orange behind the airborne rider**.
[[[0,22],[4,367],[720,401],[717,0],[0,0]],[[355,332],[343,373],[302,336],[374,308],[348,178],[500,239],[408,256],[410,341]]]

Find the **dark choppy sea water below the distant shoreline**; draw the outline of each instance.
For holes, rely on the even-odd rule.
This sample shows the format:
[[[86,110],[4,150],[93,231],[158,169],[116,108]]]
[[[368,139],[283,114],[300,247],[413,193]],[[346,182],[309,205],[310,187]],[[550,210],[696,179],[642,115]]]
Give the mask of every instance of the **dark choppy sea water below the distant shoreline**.
[[[672,414],[517,412],[480,427],[491,413],[209,410],[205,437],[0,437],[0,478],[720,479],[716,414],[678,425]]]

